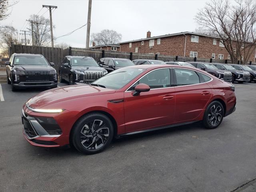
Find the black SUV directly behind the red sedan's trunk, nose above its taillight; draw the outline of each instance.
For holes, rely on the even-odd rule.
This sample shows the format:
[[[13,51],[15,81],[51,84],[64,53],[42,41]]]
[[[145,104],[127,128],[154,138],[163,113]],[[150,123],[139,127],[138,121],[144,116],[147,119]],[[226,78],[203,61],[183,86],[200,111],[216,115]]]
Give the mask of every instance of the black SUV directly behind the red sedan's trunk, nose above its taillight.
[[[213,76],[216,76],[217,78],[231,82],[232,81],[232,73],[227,70],[220,70],[216,66],[214,66],[212,63],[202,63],[202,62],[188,62],[192,64],[194,67],[198,69],[202,69]]]

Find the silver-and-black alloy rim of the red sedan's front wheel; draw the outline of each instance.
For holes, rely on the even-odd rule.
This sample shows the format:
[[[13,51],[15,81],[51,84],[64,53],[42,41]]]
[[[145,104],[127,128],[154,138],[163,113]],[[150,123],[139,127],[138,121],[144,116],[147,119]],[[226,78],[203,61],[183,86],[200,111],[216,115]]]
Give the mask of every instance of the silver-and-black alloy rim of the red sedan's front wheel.
[[[88,150],[99,149],[107,142],[109,128],[103,120],[87,122],[80,132],[80,142]]]

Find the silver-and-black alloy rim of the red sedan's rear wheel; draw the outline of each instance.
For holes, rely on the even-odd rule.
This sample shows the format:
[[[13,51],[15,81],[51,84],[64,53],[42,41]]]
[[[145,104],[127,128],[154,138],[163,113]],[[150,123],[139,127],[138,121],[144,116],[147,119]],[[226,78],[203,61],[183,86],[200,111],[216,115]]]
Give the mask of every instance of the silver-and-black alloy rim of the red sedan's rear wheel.
[[[212,126],[218,125],[220,123],[221,119],[222,119],[222,114],[223,114],[222,108],[219,105],[214,104],[209,109],[208,122]]]

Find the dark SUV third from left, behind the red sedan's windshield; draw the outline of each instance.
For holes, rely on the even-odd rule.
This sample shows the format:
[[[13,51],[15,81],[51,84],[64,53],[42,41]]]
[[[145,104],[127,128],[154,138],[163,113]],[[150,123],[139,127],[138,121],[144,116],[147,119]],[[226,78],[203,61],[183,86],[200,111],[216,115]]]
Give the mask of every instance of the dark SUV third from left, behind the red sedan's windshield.
[[[120,58],[101,58],[99,64],[102,64],[103,68],[108,72],[112,72],[122,67],[133,66],[134,63],[130,59]]]

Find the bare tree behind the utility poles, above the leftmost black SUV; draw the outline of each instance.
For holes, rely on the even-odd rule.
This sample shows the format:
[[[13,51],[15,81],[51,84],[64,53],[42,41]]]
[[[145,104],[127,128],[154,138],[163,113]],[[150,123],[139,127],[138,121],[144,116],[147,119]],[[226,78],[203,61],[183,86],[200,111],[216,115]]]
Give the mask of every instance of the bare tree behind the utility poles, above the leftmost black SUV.
[[[40,24],[33,23],[33,31],[32,31],[31,25],[29,26],[30,32],[34,34],[36,46],[48,46],[51,41],[50,20],[44,18],[44,16],[39,17],[38,15],[35,15],[35,14],[31,15],[29,20],[40,23]],[[37,31],[37,25],[38,25],[38,31]],[[55,28],[55,26],[53,26],[53,28]]]

